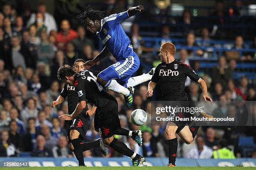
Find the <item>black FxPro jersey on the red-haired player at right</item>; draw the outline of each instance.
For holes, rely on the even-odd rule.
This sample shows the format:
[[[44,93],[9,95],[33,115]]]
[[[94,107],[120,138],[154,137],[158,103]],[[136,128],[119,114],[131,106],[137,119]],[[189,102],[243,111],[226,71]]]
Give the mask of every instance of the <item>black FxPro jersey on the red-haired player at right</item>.
[[[184,91],[187,76],[196,82],[200,79],[189,65],[174,60],[169,64],[161,62],[151,81],[160,85],[163,100],[182,101],[187,100],[187,93]]]

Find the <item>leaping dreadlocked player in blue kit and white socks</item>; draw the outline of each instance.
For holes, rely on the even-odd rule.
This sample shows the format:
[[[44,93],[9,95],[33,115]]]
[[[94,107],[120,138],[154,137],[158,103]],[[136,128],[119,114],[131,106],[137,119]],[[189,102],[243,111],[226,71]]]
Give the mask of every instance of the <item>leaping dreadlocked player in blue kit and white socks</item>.
[[[97,81],[106,88],[123,94],[127,107],[130,107],[133,103],[133,86],[150,80],[155,69],[151,69],[148,74],[128,80],[138,70],[140,60],[136,52],[133,51],[131,41],[125,34],[120,22],[136,15],[141,10],[143,10],[143,6],[138,5],[123,13],[104,18],[104,11],[93,10],[88,5],[84,13],[77,16],[89,32],[97,34],[102,45],[105,46],[93,60],[84,63],[85,69],[89,69],[111,53],[115,57],[116,63],[100,72]]]

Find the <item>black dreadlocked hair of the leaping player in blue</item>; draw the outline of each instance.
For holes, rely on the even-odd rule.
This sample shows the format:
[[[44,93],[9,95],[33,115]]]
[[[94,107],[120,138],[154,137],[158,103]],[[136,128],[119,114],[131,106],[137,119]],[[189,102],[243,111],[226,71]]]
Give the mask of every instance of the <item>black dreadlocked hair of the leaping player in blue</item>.
[[[101,19],[104,18],[104,13],[105,11],[94,10],[92,9],[91,5],[88,5],[86,10],[82,14],[77,15],[77,18],[80,19],[81,23],[84,24],[84,20],[86,18],[90,18],[93,21],[95,20],[100,21]]]

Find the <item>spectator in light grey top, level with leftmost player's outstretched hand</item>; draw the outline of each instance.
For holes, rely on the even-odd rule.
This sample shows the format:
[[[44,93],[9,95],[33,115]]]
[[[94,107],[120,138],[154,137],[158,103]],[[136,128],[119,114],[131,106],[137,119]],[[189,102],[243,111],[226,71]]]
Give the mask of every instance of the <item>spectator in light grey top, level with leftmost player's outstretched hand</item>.
[[[26,101],[25,109],[23,109],[20,113],[20,118],[26,124],[28,122],[28,118],[37,117],[37,115],[38,115],[38,110],[36,108],[36,101],[33,98],[29,98]]]

